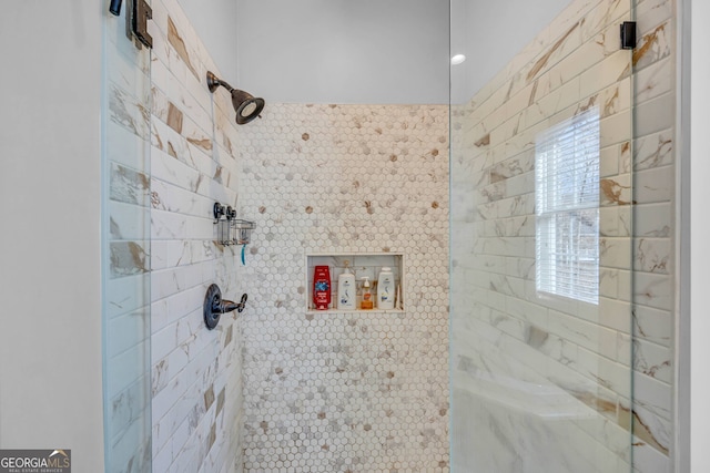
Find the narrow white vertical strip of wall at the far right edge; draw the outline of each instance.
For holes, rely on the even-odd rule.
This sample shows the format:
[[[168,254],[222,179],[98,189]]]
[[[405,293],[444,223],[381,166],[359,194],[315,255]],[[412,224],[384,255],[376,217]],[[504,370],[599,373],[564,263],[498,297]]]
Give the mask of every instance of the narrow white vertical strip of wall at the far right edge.
[[[707,203],[710,200],[710,63],[708,50],[710,32],[710,3],[692,1],[691,31],[691,469],[693,473],[710,471],[710,217]]]

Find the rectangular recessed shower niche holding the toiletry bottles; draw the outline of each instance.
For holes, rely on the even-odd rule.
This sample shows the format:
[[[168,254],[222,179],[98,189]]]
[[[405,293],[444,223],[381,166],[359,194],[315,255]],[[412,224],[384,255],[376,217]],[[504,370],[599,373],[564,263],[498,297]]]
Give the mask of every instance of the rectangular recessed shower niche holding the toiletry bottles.
[[[404,254],[402,253],[356,253],[356,254],[308,254],[306,255],[306,310],[308,312],[323,312],[324,310],[316,310],[313,301],[313,278],[316,266],[327,266],[331,273],[331,305],[328,311],[337,312],[372,312],[372,311],[385,311],[385,312],[403,312],[407,297],[405,294],[404,284]],[[337,309],[337,295],[338,287],[337,280],[345,268],[355,275],[355,282],[357,286],[356,309],[355,310],[341,310]],[[389,310],[378,309],[377,305],[373,309],[361,309],[361,301],[363,295],[363,278],[368,277],[371,281],[371,290],[373,297],[376,298],[377,294],[377,277],[379,270],[383,267],[392,268],[392,273],[395,278],[395,287],[397,288],[397,297],[395,299],[395,308]]]

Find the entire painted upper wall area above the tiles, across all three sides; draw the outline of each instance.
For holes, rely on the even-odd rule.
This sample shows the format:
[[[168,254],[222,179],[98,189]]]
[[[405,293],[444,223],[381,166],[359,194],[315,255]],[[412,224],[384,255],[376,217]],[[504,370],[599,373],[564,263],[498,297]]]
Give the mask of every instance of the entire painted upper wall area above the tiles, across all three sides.
[[[446,0],[180,0],[224,80],[268,102],[448,102]],[[475,3],[475,4],[474,4]],[[570,0],[453,0],[452,95],[474,95]],[[237,64],[239,62],[239,64]]]

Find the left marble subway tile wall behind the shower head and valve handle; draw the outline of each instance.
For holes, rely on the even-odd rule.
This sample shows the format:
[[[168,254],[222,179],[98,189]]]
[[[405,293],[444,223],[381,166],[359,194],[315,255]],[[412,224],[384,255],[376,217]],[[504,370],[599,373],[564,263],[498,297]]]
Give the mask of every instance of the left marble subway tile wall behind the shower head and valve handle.
[[[176,0],[153,0],[150,178],[153,471],[243,471],[242,312],[207,330],[206,288],[246,290],[240,248],[216,241],[212,207],[236,206],[240,156],[230,95]],[[150,121],[148,120],[150,117]]]

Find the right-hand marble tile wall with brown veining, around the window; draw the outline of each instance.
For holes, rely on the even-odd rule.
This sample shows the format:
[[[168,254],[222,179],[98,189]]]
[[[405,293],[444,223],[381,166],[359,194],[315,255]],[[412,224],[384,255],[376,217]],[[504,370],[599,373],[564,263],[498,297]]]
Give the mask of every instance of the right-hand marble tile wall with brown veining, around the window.
[[[454,471],[629,471],[631,424],[633,467],[670,469],[672,2],[641,0],[635,14],[631,55],[618,44],[629,1],[574,1],[453,110]],[[534,166],[536,135],[592,106],[600,301],[589,307],[536,294]]]

